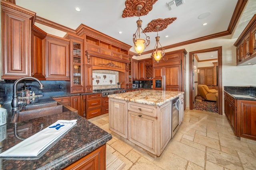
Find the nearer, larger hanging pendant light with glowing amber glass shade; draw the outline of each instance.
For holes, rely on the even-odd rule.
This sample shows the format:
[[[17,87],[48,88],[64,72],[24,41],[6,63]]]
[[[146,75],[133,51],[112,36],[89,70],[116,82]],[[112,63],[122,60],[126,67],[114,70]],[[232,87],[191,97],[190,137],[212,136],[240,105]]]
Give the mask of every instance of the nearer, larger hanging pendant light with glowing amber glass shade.
[[[137,5],[136,6],[136,10],[138,11],[139,13],[139,20],[136,21],[137,23],[137,30],[136,32],[133,34],[133,43],[134,43],[134,48],[136,50],[136,52],[138,53],[138,55],[141,55],[141,53],[144,51],[144,48],[148,47],[149,43],[150,43],[150,37],[148,37],[145,34],[146,36],[146,41],[145,39],[142,39],[140,38],[140,31],[143,31],[142,28],[141,28],[141,23],[142,23],[142,20],[140,20],[140,10],[142,9],[142,5]]]

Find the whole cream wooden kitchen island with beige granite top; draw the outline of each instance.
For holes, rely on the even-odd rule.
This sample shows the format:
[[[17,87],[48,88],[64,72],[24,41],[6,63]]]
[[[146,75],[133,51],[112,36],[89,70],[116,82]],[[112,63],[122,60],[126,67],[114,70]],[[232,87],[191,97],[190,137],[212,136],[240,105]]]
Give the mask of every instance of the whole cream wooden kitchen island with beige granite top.
[[[172,116],[172,100],[182,100],[183,96],[184,92],[161,90],[108,95],[109,129],[151,156],[160,156],[178,130],[174,121],[179,125],[183,119],[182,109]],[[184,104],[178,107],[184,108]]]

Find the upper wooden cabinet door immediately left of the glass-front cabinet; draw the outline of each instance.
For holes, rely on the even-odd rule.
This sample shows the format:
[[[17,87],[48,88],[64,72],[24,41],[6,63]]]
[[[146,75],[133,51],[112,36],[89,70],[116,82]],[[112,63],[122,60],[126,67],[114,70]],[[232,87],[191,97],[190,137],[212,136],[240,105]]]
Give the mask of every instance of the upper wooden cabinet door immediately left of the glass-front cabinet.
[[[46,80],[70,80],[69,40],[46,36]]]

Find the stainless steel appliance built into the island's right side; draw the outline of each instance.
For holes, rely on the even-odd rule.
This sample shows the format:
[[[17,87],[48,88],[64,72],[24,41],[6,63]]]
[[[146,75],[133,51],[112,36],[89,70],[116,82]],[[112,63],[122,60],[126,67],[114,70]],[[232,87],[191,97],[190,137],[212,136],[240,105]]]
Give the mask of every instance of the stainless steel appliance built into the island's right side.
[[[174,137],[175,133],[179,129],[179,119],[180,119],[180,111],[181,108],[181,102],[179,98],[175,98],[172,100],[172,138]]]

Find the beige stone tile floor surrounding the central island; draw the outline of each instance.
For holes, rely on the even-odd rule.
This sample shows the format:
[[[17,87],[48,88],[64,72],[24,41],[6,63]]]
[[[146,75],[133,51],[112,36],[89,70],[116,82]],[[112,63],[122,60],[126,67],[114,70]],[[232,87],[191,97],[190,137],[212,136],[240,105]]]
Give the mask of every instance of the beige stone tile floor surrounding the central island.
[[[225,115],[185,110],[184,120],[160,157],[152,158],[108,129],[108,115],[90,119],[113,135],[107,149],[124,170],[256,170],[256,141],[236,137]]]

